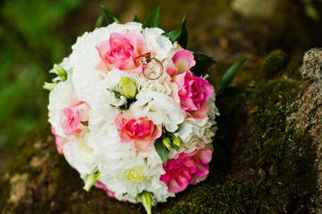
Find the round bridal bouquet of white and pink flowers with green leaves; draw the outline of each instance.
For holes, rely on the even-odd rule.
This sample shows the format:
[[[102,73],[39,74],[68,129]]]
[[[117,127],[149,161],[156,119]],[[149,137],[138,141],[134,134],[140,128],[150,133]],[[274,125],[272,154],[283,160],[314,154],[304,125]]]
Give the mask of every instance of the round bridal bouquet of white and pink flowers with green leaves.
[[[209,174],[215,93],[193,72],[185,19],[164,34],[159,8],[144,24],[120,24],[103,9],[110,24],[78,37],[50,71],[49,122],[85,190],[95,185],[150,212]]]

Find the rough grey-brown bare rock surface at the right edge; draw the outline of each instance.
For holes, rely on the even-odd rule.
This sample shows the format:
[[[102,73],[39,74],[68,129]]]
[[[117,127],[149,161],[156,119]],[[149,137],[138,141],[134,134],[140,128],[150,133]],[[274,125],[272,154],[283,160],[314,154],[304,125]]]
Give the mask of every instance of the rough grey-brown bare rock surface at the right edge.
[[[316,146],[315,160],[318,169],[318,202],[322,202],[322,49],[314,48],[305,53],[301,76],[300,98],[293,103],[289,120],[296,124],[300,132],[308,133]],[[317,213],[322,213],[319,207]]]

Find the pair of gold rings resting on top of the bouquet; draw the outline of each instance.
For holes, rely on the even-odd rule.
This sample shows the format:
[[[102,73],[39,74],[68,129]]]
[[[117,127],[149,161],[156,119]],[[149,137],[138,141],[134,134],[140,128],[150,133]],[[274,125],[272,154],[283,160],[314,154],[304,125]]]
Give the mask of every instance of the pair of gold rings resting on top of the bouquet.
[[[144,53],[136,57],[136,65],[141,65],[145,78],[155,80],[161,77],[163,72],[162,63],[152,57],[152,53]]]

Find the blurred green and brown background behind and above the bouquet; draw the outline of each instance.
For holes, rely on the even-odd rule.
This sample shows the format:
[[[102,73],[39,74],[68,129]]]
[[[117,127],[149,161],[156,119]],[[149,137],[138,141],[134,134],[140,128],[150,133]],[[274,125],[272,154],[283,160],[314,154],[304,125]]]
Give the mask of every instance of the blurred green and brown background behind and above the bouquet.
[[[54,63],[71,52],[110,8],[122,22],[141,21],[161,5],[161,28],[178,29],[187,14],[188,48],[219,61],[257,59],[276,48],[302,55],[321,45],[321,1],[6,0],[0,3],[0,148],[12,148],[47,115],[42,89]],[[104,23],[106,24],[106,23]]]

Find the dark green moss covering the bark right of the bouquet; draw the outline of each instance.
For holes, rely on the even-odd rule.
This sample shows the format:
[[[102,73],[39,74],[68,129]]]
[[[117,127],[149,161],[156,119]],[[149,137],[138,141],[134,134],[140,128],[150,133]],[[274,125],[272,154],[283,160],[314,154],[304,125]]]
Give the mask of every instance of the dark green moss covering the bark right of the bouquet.
[[[298,69],[297,63],[288,68]],[[224,182],[209,177],[157,210],[169,214],[312,210],[315,204],[310,199],[317,194],[316,148],[309,134],[298,134],[287,122],[288,106],[298,98],[300,85],[282,76],[260,86],[247,99],[252,136],[230,176]]]

